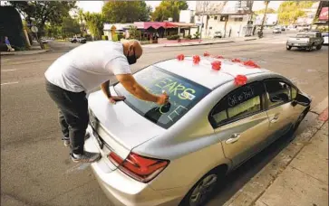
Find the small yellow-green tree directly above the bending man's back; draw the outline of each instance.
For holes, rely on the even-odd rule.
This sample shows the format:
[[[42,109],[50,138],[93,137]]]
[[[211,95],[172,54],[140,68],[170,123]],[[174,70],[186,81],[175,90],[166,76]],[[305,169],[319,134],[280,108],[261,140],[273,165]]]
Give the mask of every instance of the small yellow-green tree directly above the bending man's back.
[[[102,39],[104,17],[99,13],[85,13],[84,18],[88,29],[96,40]]]

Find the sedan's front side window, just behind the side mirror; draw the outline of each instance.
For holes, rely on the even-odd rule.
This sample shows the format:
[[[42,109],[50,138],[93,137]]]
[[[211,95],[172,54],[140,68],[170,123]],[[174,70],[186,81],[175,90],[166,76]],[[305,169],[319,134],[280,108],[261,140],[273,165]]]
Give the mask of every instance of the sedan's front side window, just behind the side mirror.
[[[269,108],[291,100],[290,86],[285,82],[269,80],[265,82],[265,86]]]

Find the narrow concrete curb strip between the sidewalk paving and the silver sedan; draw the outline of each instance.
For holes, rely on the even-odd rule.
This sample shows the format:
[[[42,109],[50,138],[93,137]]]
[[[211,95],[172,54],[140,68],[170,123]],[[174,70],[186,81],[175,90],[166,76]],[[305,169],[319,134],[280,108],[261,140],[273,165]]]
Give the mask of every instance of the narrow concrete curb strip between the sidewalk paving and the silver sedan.
[[[327,98],[324,98],[323,102],[327,102]],[[324,103],[321,102],[315,108],[323,108]],[[309,144],[309,141],[316,134],[317,131],[324,125],[327,119],[320,120],[321,116],[327,115],[327,107],[323,109],[321,115],[310,111],[316,116],[314,124],[307,126],[302,134],[295,136],[293,141],[287,145],[275,158],[273,158],[266,166],[256,173],[238,192],[236,192],[223,206],[254,206],[255,202],[266,192],[266,189],[274,183],[277,176],[282,173],[285,168],[290,164],[295,156]],[[324,114],[324,115],[323,115]],[[324,121],[325,120],[325,121]]]

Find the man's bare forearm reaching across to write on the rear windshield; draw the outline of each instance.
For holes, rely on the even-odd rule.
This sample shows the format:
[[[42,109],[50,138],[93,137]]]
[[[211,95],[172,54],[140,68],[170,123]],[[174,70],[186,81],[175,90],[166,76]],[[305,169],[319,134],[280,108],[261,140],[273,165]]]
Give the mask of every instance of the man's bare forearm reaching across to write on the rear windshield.
[[[140,86],[140,84],[133,78],[131,74],[116,75],[117,80],[120,81],[122,86],[127,89],[133,96],[141,100],[155,102],[157,104],[165,104],[168,101],[168,95],[163,94],[156,96],[148,92]]]

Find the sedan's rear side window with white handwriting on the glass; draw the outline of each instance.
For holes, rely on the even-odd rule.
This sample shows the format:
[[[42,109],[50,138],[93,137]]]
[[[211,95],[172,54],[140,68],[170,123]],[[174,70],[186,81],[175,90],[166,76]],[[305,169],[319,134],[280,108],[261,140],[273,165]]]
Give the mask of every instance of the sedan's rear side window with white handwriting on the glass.
[[[209,117],[211,125],[218,127],[261,111],[261,97],[264,93],[264,85],[261,82],[233,90],[212,110]]]

